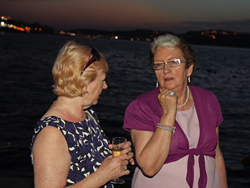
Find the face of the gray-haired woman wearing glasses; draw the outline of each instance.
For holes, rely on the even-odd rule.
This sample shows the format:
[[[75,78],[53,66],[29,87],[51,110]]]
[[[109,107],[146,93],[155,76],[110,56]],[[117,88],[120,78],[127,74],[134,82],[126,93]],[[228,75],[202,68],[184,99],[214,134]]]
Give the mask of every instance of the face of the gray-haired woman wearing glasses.
[[[182,52],[179,48],[168,50],[166,48],[159,48],[154,54],[155,61],[168,62],[171,60],[184,60]],[[193,65],[186,69],[186,63],[181,63],[178,67],[165,67],[161,70],[155,70],[156,77],[160,87],[168,90],[178,91],[187,86],[187,77],[191,76],[193,72]]]

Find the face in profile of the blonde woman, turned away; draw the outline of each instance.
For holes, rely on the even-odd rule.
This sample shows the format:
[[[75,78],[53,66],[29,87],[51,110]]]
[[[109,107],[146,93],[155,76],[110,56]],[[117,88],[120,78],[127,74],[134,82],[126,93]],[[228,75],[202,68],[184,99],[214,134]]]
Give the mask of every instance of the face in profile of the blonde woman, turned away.
[[[96,79],[89,83],[87,93],[84,95],[84,101],[87,103],[86,106],[92,106],[98,103],[102,90],[108,88],[105,79],[106,73],[100,70],[98,71]]]

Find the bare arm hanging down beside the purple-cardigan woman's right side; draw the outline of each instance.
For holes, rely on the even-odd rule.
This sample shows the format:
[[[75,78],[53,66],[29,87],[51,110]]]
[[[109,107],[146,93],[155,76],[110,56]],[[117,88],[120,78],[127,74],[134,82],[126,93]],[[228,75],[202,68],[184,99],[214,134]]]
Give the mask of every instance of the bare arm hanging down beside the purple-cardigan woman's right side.
[[[216,128],[216,133],[217,133],[217,146],[215,148],[215,164],[216,164],[216,169],[218,171],[219,177],[220,177],[220,182],[222,188],[227,188],[227,173],[226,173],[226,166],[224,162],[224,158],[219,146],[219,128]]]

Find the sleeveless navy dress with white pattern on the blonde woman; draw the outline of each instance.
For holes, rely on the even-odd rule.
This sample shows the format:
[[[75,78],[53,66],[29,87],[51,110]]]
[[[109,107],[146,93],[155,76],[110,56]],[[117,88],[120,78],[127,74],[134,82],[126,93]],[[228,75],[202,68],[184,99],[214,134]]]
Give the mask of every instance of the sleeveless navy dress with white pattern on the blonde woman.
[[[111,151],[108,139],[99,125],[99,120],[92,109],[85,111],[87,117],[82,122],[69,122],[56,116],[49,116],[37,122],[32,138],[31,149],[36,136],[47,127],[53,126],[64,135],[71,155],[71,165],[67,186],[75,184],[95,172]],[[104,188],[113,188],[107,183]]]

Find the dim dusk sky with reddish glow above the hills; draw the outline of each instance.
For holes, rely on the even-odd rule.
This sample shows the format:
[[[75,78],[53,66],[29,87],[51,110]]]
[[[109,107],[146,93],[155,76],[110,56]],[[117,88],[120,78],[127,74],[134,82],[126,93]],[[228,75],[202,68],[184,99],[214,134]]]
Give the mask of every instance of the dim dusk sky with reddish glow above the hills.
[[[250,33],[250,0],[0,0],[0,14],[56,30]]]

